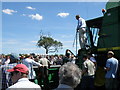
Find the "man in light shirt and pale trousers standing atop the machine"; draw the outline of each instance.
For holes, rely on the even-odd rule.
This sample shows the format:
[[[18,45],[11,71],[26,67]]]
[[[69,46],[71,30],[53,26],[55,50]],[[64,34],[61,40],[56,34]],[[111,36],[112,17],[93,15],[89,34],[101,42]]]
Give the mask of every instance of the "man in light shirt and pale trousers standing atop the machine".
[[[80,15],[76,15],[76,19],[78,20],[77,32],[79,32],[79,42],[82,49],[85,48],[86,43],[86,22]]]

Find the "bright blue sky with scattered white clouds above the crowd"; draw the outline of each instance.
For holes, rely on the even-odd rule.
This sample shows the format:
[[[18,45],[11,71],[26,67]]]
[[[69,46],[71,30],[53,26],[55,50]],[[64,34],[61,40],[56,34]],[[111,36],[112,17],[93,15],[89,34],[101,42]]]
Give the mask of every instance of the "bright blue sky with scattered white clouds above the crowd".
[[[2,53],[45,54],[45,49],[36,46],[42,30],[63,43],[63,49],[50,54],[65,54],[66,49],[75,54],[75,15],[85,20],[101,17],[105,5],[106,2],[2,2]]]

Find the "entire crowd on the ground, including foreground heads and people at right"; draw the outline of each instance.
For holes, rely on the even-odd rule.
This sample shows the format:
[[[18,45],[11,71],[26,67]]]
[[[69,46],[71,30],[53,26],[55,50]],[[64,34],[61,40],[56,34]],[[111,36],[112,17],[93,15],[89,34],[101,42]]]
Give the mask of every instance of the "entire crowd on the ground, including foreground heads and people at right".
[[[114,52],[107,53],[108,59],[104,67],[106,90],[118,90],[120,72],[119,61],[114,58]],[[50,65],[60,65],[59,68],[59,85],[56,88],[70,90],[96,90],[94,81],[97,75],[97,61],[95,57],[88,53],[83,55],[82,68],[76,64],[76,57],[69,49],[65,55],[18,55],[12,53],[10,55],[0,55],[0,89],[13,90],[13,88],[34,88],[35,90],[47,90],[48,74]],[[39,84],[35,84],[36,72],[34,66],[40,68],[40,74],[43,79],[44,88]],[[119,75],[118,75],[119,74]],[[38,80],[39,81],[39,80]],[[119,82],[119,83],[118,83]],[[34,90],[32,89],[32,90]]]

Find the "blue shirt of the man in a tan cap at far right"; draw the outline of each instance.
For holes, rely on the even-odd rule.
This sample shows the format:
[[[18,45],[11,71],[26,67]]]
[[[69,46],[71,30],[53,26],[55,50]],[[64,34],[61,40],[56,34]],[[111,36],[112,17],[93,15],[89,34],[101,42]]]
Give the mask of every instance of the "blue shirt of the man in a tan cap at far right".
[[[110,68],[109,71],[107,71],[105,78],[116,78],[116,73],[118,69],[118,60],[115,58],[109,58],[106,62],[106,67]]]

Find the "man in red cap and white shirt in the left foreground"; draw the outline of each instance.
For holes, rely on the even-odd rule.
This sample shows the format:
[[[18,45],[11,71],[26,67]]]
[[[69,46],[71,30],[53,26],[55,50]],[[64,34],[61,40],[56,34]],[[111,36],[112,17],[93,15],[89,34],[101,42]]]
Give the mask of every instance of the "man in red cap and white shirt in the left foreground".
[[[29,69],[24,64],[17,64],[14,68],[8,69],[11,72],[11,78],[14,85],[7,90],[41,90],[41,87],[27,78]]]

